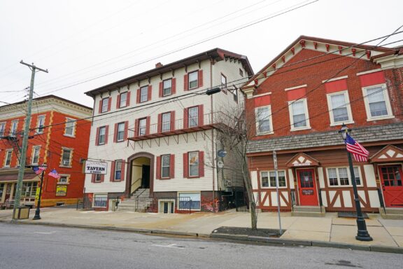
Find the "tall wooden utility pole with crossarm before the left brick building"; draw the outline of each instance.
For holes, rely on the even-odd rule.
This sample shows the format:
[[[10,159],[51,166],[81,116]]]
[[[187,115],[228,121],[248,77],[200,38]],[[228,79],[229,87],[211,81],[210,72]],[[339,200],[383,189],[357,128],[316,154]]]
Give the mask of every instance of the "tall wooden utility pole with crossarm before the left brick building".
[[[17,186],[15,187],[13,220],[15,220],[15,210],[17,209],[17,207],[20,206],[22,179],[24,179],[25,158],[27,156],[29,126],[31,125],[31,108],[32,108],[32,96],[34,95],[35,73],[36,73],[36,70],[48,73],[48,69],[45,70],[45,69],[41,69],[39,67],[36,67],[34,65],[34,63],[27,64],[25,62],[22,62],[22,60],[21,60],[20,64],[24,64],[27,67],[29,67],[29,69],[31,69],[31,85],[29,85],[29,99],[28,99],[28,104],[27,104],[27,116],[25,117],[24,136],[22,137],[20,168],[18,170]]]

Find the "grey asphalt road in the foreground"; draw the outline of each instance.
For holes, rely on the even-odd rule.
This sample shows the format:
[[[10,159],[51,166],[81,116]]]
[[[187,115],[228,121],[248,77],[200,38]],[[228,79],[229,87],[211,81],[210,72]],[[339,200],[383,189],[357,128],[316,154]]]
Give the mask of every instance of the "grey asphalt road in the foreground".
[[[0,223],[0,268],[401,268],[403,255]]]

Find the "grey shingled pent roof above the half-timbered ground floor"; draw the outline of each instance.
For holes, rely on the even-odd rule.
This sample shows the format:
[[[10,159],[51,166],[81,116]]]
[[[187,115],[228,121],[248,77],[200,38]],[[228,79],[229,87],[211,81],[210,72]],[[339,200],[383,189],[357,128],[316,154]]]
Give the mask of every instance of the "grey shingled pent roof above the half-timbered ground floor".
[[[353,129],[351,136],[360,144],[403,139],[403,123],[375,125]],[[266,151],[284,151],[310,149],[320,146],[339,146],[344,144],[337,131],[316,132],[308,135],[292,135],[271,139],[252,140],[248,145],[248,153]]]

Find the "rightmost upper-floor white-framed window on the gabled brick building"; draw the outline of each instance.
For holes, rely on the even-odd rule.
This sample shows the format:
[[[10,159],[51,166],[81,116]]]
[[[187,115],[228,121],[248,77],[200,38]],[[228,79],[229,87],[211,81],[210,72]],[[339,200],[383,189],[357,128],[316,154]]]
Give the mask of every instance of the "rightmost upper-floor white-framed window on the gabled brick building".
[[[393,118],[385,84],[362,88],[368,120]]]

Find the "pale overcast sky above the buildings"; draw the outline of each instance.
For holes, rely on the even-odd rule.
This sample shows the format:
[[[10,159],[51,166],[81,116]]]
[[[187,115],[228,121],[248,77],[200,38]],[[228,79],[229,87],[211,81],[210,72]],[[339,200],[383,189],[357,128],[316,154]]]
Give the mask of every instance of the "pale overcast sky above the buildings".
[[[362,43],[401,25],[402,0],[1,0],[0,105],[27,95],[31,71],[20,60],[49,70],[36,74],[35,97],[92,106],[83,92],[157,62],[222,48],[257,72],[300,35]]]

